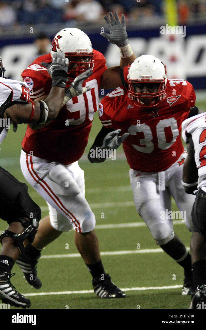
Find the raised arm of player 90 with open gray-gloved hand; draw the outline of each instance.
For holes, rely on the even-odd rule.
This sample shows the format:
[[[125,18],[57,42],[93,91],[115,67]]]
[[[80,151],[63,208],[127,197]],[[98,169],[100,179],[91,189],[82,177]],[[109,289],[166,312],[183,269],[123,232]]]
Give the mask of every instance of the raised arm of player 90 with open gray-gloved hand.
[[[110,19],[109,19],[110,18]],[[128,35],[125,25],[125,16],[122,15],[121,22],[117,12],[109,12],[108,16],[104,16],[109,33],[102,32],[101,36],[107,38],[107,40],[117,45],[120,51],[120,66],[108,68],[102,75],[101,87],[102,88],[116,88],[122,85],[119,69],[125,65],[133,63],[136,59],[136,56],[129,44]]]

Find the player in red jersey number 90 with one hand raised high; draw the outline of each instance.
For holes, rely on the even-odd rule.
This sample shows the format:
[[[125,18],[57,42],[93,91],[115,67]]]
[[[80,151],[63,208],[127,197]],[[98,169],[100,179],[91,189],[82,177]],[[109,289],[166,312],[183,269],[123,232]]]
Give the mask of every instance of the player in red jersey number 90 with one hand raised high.
[[[128,43],[124,15],[121,23],[116,12],[109,16],[110,20],[107,16],[105,20],[110,34],[101,34],[119,47],[122,67],[132,63],[135,55]],[[83,84],[91,90],[72,97],[46,127],[40,130],[27,127],[22,142],[21,169],[27,181],[47,201],[50,217],[41,220],[34,243],[26,248],[17,263],[27,281],[40,288],[42,283],[36,274],[39,250],[74,227],[75,244],[91,272],[95,293],[101,298],[126,297],[104,272],[94,232],[95,216],[84,197],[84,174],[77,162],[87,145],[93,115],[98,109],[99,88],[115,88],[121,83],[119,67],[107,69],[103,54],[92,49],[83,31],[63,29],[54,37],[50,54],[37,58],[22,73],[24,81],[31,83],[33,99],[48,94],[51,78],[46,68],[50,70],[52,56],[59,48],[69,59],[66,87],[82,72],[92,69],[92,75]],[[71,90],[67,93],[66,88],[66,96],[70,94]]]

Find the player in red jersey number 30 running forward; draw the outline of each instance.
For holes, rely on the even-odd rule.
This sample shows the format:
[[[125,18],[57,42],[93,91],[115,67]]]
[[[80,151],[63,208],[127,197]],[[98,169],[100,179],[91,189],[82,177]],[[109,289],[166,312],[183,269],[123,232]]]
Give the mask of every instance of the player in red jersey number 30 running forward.
[[[187,195],[181,183],[187,155],[181,141],[181,123],[198,113],[195,93],[189,82],[167,79],[166,67],[152,55],[140,56],[124,67],[122,78],[123,86],[101,101],[103,128],[88,158],[91,162],[104,161],[105,156],[98,150],[116,149],[121,143],[118,134],[128,135],[123,149],[131,167],[137,212],[157,244],[184,267],[182,294],[189,294],[191,257],[174,233],[172,220],[177,216],[181,219],[181,213],[187,228],[193,230],[190,213],[194,196]],[[181,212],[172,213],[171,196]]]

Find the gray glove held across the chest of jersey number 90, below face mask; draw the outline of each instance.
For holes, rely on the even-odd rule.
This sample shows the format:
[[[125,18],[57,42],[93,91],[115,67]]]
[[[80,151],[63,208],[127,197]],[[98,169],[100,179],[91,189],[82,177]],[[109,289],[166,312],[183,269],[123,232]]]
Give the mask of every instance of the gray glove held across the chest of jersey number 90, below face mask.
[[[74,79],[71,85],[65,89],[65,97],[62,106],[72,97],[81,95],[91,89],[90,86],[82,87],[83,82],[92,75],[92,69],[89,69]]]

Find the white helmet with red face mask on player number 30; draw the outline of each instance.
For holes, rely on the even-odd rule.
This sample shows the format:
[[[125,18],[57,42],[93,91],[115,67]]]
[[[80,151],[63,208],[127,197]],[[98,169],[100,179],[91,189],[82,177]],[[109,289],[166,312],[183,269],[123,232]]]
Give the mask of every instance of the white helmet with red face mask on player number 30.
[[[166,97],[165,89],[167,83],[166,66],[153,55],[142,55],[134,60],[129,67],[129,98],[141,107],[156,107],[160,100]],[[144,86],[140,84],[147,83],[147,90],[143,92]],[[152,92],[152,88],[155,92]],[[137,89],[141,92],[137,92]],[[150,90],[151,89],[151,90]]]

